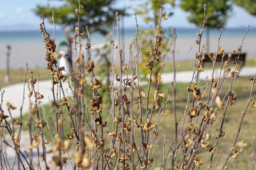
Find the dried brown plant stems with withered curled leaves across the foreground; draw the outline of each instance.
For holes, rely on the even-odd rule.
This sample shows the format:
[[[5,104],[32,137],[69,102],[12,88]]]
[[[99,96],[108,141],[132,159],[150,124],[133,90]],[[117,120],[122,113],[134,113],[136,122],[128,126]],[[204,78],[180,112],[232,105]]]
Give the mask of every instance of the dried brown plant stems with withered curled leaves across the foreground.
[[[116,13],[118,40],[115,42],[115,25],[113,25],[112,53],[109,56],[112,65],[112,69],[109,70],[111,85],[109,86],[110,92],[108,94],[110,96],[106,96],[108,98],[111,97],[111,100],[108,100],[108,103],[111,103],[109,104],[111,106],[110,110],[108,110],[108,107],[104,108],[106,106],[102,101],[104,94],[100,93],[103,80],[100,80],[95,75],[95,63],[90,49],[90,32],[88,27],[86,27],[86,32],[82,32],[80,29],[81,8],[83,6],[79,3],[78,8],[75,10],[78,22],[72,42],[74,43],[76,59],[74,60],[74,67],[70,69],[72,71],[69,80],[67,80],[67,76],[62,74],[65,67],[58,67],[57,65],[56,56],[58,56],[58,52],[56,52],[55,40],[54,38],[51,39],[50,34],[45,29],[44,12],[42,11],[43,22],[40,24],[40,29],[45,43],[47,69],[52,74],[52,112],[46,114],[52,115],[51,121],[54,122],[55,127],[49,126],[48,122],[50,120],[45,117],[44,107],[41,106],[40,100],[44,98],[44,94],[40,94],[40,89],[37,88],[36,90],[36,84],[40,81],[40,76],[36,80],[33,78],[33,73],[31,73],[31,78],[28,80],[30,102],[28,124],[22,122],[24,99],[20,107],[20,118],[12,117],[12,110],[15,107],[11,103],[8,103],[7,110],[11,116],[10,118],[6,111],[3,110],[2,104],[0,105],[2,138],[0,158],[2,169],[12,169],[13,166],[17,167],[17,169],[54,169],[54,167],[59,169],[151,169],[152,164],[154,164],[153,152],[161,152],[161,149],[153,150],[154,147],[163,147],[163,164],[159,169],[194,169],[195,167],[199,169],[204,164],[200,159],[200,154],[204,150],[211,153],[208,169],[212,168],[214,161],[215,164],[220,164],[221,161],[219,159],[214,160],[213,157],[216,153],[216,148],[219,146],[218,144],[221,143],[221,138],[225,136],[223,124],[225,124],[227,108],[229,105],[232,106],[234,104],[233,101],[236,100],[233,85],[241,68],[239,55],[249,27],[244,34],[241,45],[236,50],[239,55],[236,59],[235,69],[233,71],[230,70],[230,59],[227,61],[222,60],[221,73],[217,80],[217,76],[214,75],[216,54],[225,55],[223,48],[220,46],[221,29],[216,53],[206,52],[212,59],[212,76],[211,80],[205,80],[207,83],[202,86],[199,82],[199,75],[200,72],[204,71],[202,60],[205,58],[205,48],[201,43],[204,25],[207,22],[207,17],[204,15],[202,29],[196,36],[198,52],[195,56],[193,77],[191,77],[191,82],[187,88],[188,98],[184,108],[184,115],[179,120],[177,116],[177,99],[179,96],[177,96],[176,74],[180,66],[177,67],[175,65],[177,38],[175,29],[173,29],[173,41],[172,47],[170,47],[173,58],[173,81],[170,82],[168,88],[159,89],[159,85],[162,83],[161,74],[165,64],[164,58],[167,57],[166,54],[161,53],[161,46],[163,45],[161,23],[163,19],[167,19],[164,15],[163,7],[160,10],[160,18],[156,26],[154,46],[148,52],[150,59],[148,59],[147,63],[143,63],[145,67],[150,69],[147,85],[142,85],[140,81],[139,61],[141,55],[137,15],[134,13],[134,45],[131,45],[129,49],[129,60],[125,64],[124,47],[120,41],[120,19],[118,13]],[[205,10],[206,5],[204,6],[204,12]],[[88,42],[84,45],[86,54],[82,50],[81,36],[83,34],[86,34],[88,38]],[[135,51],[134,54],[132,49]],[[115,50],[118,51],[118,68],[114,66]],[[156,62],[159,62],[161,69],[157,74],[156,86],[152,86],[152,70]],[[229,75],[232,80],[223,97],[220,93]],[[234,146],[241,133],[244,116],[253,100],[252,92],[255,76],[252,78],[252,89],[248,96],[248,103],[244,106],[241,122],[234,137],[234,143],[230,148],[227,159],[223,161],[222,169],[228,169],[233,164],[242,152],[246,142],[245,139],[241,148],[239,150],[235,149]],[[88,78],[90,78],[90,82],[88,82]],[[72,91],[71,97],[68,96],[63,88],[65,81],[69,81],[69,88]],[[1,96],[3,101],[3,93]],[[256,106],[255,101],[253,101],[252,106]],[[172,128],[174,133],[168,134],[171,135],[172,141],[167,141],[166,136],[164,136],[163,146],[155,146],[154,142],[161,134],[158,131],[158,127],[161,126],[159,120],[171,112],[166,108],[172,108],[174,120]],[[213,129],[212,125],[214,125],[216,118],[221,113],[223,114],[221,124],[218,129]],[[67,122],[70,124],[70,131],[68,132],[64,131],[64,127],[68,126]],[[20,148],[23,125],[28,126],[29,129],[28,148]],[[12,139],[12,143],[6,141],[6,136],[8,135]],[[46,139],[47,136],[50,136],[50,138]],[[10,146],[15,150],[17,161],[14,161],[12,165],[8,161],[8,153],[4,149],[5,146]],[[166,149],[167,146],[168,148]],[[252,160],[249,162],[250,168],[254,166],[254,162],[255,146]]]

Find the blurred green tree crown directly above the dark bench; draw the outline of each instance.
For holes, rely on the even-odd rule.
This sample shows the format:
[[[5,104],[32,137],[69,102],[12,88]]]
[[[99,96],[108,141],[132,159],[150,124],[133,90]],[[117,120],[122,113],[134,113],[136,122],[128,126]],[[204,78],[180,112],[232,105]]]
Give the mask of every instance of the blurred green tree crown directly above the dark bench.
[[[181,0],[180,8],[190,13],[188,20],[196,26],[202,25],[204,21],[204,4],[207,4],[206,27],[220,29],[225,25],[228,13],[232,10],[229,0]]]

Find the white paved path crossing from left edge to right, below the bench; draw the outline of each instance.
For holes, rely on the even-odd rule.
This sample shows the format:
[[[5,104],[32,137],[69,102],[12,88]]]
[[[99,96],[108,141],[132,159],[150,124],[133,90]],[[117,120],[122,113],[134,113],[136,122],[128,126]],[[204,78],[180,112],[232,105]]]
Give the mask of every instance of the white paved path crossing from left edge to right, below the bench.
[[[241,69],[239,76],[253,76],[256,73],[256,67],[243,67]],[[191,81],[193,72],[191,71],[180,71],[177,73],[176,80],[177,82],[183,82],[188,83]],[[204,72],[200,73],[199,79],[204,81],[205,78],[208,76],[208,78],[211,78],[212,71],[211,70],[205,70]],[[220,74],[220,69],[216,69],[214,73],[214,77],[217,78]],[[131,76],[129,76],[131,77]],[[170,83],[170,81],[173,81],[173,73],[163,73],[161,75],[163,83]],[[88,80],[90,81],[90,80]],[[141,84],[147,84],[147,82],[141,82]],[[118,85],[117,82],[115,82],[115,85]],[[39,82],[39,92],[40,94],[44,95],[44,99],[42,99],[42,104],[49,103],[49,100],[52,99],[52,92],[51,92],[51,80],[45,80]],[[36,91],[38,90],[38,85],[36,83]],[[71,90],[68,88],[67,81],[63,83],[63,88],[65,90],[65,93],[67,96],[70,96],[72,94]],[[18,83],[15,85],[10,85],[8,87],[3,87],[2,90],[4,90],[4,97],[3,97],[3,110],[7,113],[7,107],[6,103],[9,102],[13,104],[13,106],[16,107],[16,110],[12,110],[13,117],[19,117],[20,115],[20,106],[22,103],[22,96],[23,96],[23,83]],[[68,91],[67,91],[68,89]],[[29,108],[29,100],[28,100],[28,88],[27,83],[25,85],[25,100],[24,100],[24,106],[23,106],[23,113],[28,112]]]

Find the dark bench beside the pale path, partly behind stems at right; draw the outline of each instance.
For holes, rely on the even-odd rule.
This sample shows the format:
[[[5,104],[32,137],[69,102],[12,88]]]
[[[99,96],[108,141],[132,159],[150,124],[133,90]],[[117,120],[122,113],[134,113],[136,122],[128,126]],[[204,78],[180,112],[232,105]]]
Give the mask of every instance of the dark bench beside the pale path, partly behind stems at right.
[[[205,55],[205,59],[202,62],[202,66],[212,65],[212,60],[208,56],[208,54],[205,53],[204,55]],[[232,53],[231,62],[236,62],[237,57],[238,57],[238,53]],[[245,57],[246,57],[246,53],[240,53],[239,62],[240,62],[241,67],[243,67],[245,64]],[[222,60],[222,55],[218,54],[217,59],[216,59],[216,64],[220,65],[221,60]],[[224,64],[225,60],[228,60],[228,53],[226,53],[224,56],[223,64]]]

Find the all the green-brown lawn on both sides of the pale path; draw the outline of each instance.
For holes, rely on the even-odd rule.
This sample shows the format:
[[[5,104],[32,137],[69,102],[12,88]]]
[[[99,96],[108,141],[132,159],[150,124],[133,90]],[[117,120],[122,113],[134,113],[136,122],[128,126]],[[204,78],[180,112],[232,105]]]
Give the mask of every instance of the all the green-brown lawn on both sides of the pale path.
[[[180,62],[177,62],[176,66],[179,66]],[[179,71],[189,71],[192,70],[193,61],[185,61],[182,66],[180,67]],[[245,67],[246,66],[255,66],[255,61],[253,58],[247,58]],[[217,68],[220,66],[216,66]],[[211,69],[211,66],[205,66],[204,69]],[[166,62],[166,66],[164,66],[163,72],[170,72],[172,71],[172,63],[171,62]],[[4,80],[4,71],[0,71],[0,87],[3,87],[5,85],[10,85],[12,83],[19,83],[23,81],[23,76],[24,76],[25,69],[11,69],[11,83],[3,83]],[[47,69],[33,69],[34,75],[40,73],[40,79],[41,80],[46,80],[51,78],[51,74]],[[27,79],[29,78],[30,74],[28,73]],[[220,164],[218,164],[216,169],[220,169],[221,165],[223,164],[223,161],[227,157],[228,152],[230,151],[230,148],[232,146],[232,143],[234,141],[234,137],[236,136],[237,128],[239,126],[239,122],[241,120],[241,111],[244,110],[247,100],[248,100],[248,95],[250,92],[250,87],[252,82],[249,81],[250,78],[241,78],[238,77],[237,80],[234,83],[234,88],[233,90],[237,94],[237,100],[234,101],[233,106],[228,106],[227,110],[227,115],[225,118],[225,124],[223,126],[223,131],[225,131],[225,136],[223,138],[220,138],[219,141],[219,146],[216,149],[216,153],[214,155],[214,160],[217,159],[218,155],[220,154]],[[230,85],[230,79],[228,79],[225,82],[225,86],[223,87],[221,96],[227,92],[227,89]],[[186,99],[188,92],[186,92],[186,87],[189,86],[189,83],[177,83],[177,119],[178,121],[181,119],[183,113],[184,113],[184,108],[186,106]],[[161,85],[161,92],[163,92],[166,88],[168,87],[168,84]],[[200,87],[202,87],[202,83],[200,83]],[[147,86],[143,87],[144,91],[147,91]],[[129,89],[128,89],[129,90]],[[152,90],[153,92],[154,90]],[[204,92],[204,90],[203,90]],[[100,94],[103,92],[101,91]],[[138,92],[134,92],[134,96],[136,96]],[[91,96],[88,94],[88,96]],[[255,92],[253,92],[253,97],[255,97]],[[107,120],[108,115],[109,115],[109,108],[106,109],[106,103],[108,101],[108,96],[104,96],[104,104],[102,104],[103,107],[103,115],[104,115],[104,120]],[[150,100],[152,101],[152,99]],[[143,103],[145,106],[145,103]],[[51,128],[52,135],[56,134],[56,129],[55,129],[55,124],[54,121],[52,120],[52,113],[51,113],[51,107],[49,104],[45,104],[44,110],[41,108],[40,111],[42,113],[45,111],[45,116],[47,119],[47,122],[49,123],[49,127]],[[136,107],[134,107],[136,109]],[[145,108],[145,107],[144,107]],[[150,107],[151,108],[151,107]],[[172,114],[172,89],[170,90],[170,102],[167,104],[166,110],[171,110],[171,114],[167,115],[166,117],[162,117],[159,121],[159,126],[158,126],[158,132],[159,135],[156,138],[156,141],[154,143],[154,147],[152,149],[152,157],[155,160],[155,163],[152,165],[153,167],[159,167],[161,166],[161,163],[163,162],[163,141],[164,141],[164,136],[166,137],[166,143],[172,143],[173,141],[173,134],[174,134],[174,121],[173,121],[173,114]],[[216,122],[212,126],[212,133],[214,132],[215,129],[218,128],[218,125],[220,124],[223,109],[218,111],[218,118],[216,119]],[[67,134],[70,134],[72,125],[70,124],[70,118],[68,117],[68,111],[67,108],[63,107],[63,115],[60,115],[60,118],[63,117],[63,123],[65,126],[63,127],[63,132],[64,136],[67,136]],[[202,114],[202,113],[201,113]],[[34,115],[34,120],[36,119],[36,115]],[[56,120],[56,115],[53,113],[54,120]],[[202,115],[200,115],[202,117]],[[23,120],[24,122],[28,122],[28,113],[24,115]],[[187,117],[188,118],[188,117]],[[145,119],[145,115],[143,115],[143,119]],[[154,118],[155,120],[155,118]],[[246,138],[248,138],[247,141],[247,146],[244,147],[243,152],[237,160],[234,162],[233,166],[231,169],[248,169],[248,166],[250,164],[250,160],[252,158],[253,154],[253,141],[252,138],[253,136],[256,135],[255,129],[256,129],[256,115],[255,115],[255,108],[252,108],[251,106],[248,108],[248,111],[246,112],[246,116],[244,118],[244,122],[242,125],[242,133],[239,134],[238,141],[242,141]],[[109,121],[109,124],[111,124],[111,120]],[[180,124],[179,124],[180,125]],[[186,125],[186,124],[185,124]],[[24,125],[23,130],[28,131],[28,126]],[[88,129],[87,129],[88,130]],[[44,127],[44,134],[46,134],[46,138],[51,139],[51,136],[49,134],[49,131],[47,127]],[[215,139],[216,133],[214,134],[214,137],[212,139]],[[106,143],[108,139],[106,139]],[[212,141],[213,144],[214,141]],[[236,146],[236,149],[239,147]],[[168,151],[168,146],[165,148],[165,152]],[[202,169],[206,169],[208,166],[209,162],[209,157],[211,156],[211,153],[204,151],[200,154],[200,159],[204,162],[204,165]],[[232,160],[232,159],[230,159]]]

